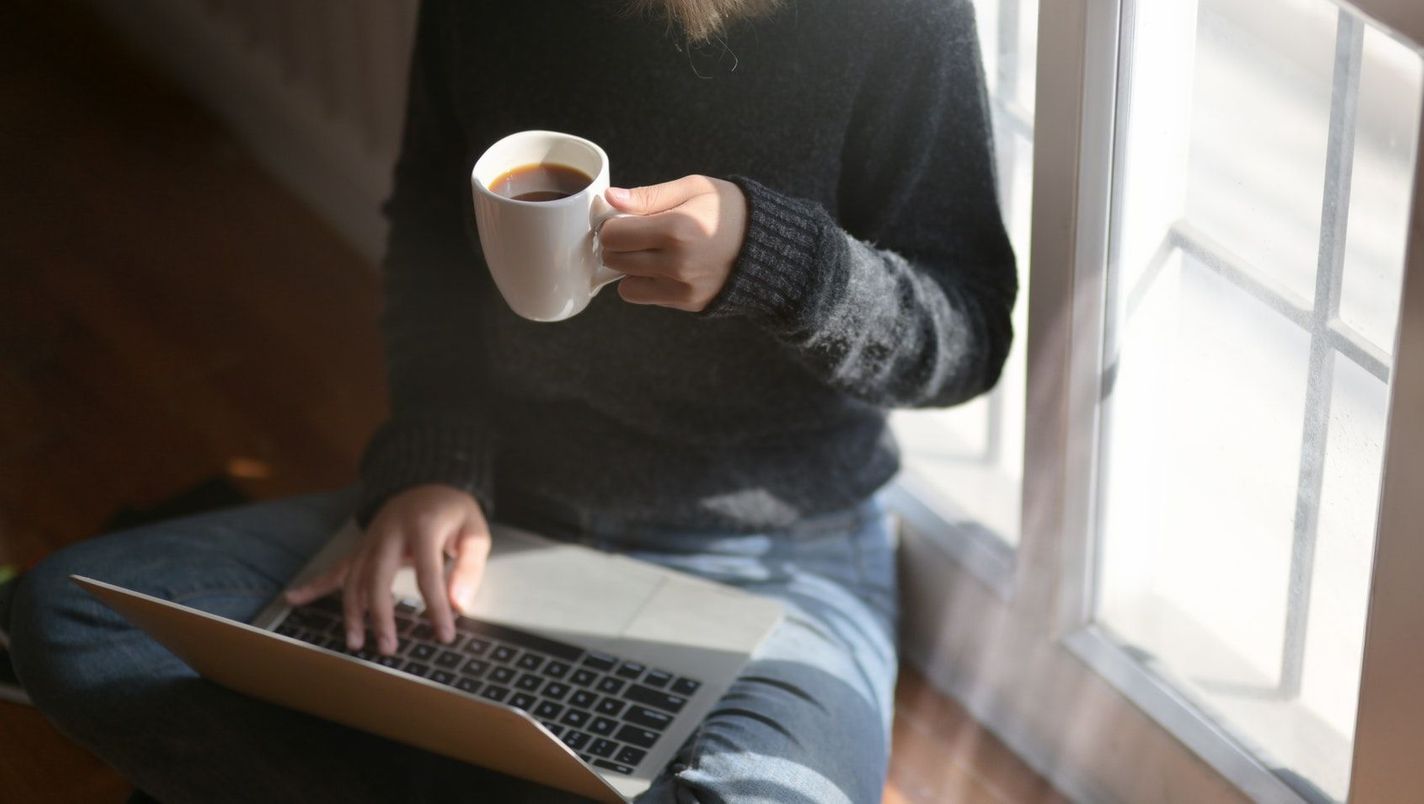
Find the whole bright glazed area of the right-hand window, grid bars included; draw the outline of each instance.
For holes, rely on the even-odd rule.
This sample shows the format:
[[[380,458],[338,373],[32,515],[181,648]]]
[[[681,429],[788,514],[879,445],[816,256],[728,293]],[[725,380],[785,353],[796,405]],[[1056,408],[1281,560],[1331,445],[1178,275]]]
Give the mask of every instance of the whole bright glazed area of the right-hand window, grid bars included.
[[[1421,58],[1327,0],[1139,1],[1125,34],[1096,622],[1343,800]]]

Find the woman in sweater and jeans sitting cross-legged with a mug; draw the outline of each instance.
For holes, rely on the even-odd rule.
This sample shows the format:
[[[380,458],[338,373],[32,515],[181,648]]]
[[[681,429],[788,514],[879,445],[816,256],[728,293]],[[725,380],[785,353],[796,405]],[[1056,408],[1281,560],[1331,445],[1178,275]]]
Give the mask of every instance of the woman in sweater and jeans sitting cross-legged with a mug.
[[[356,515],[362,545],[288,592],[340,589],[352,646],[390,650],[402,562],[451,636],[490,517],[779,598],[786,622],[644,800],[879,800],[897,616],[874,501],[897,468],[886,411],[990,388],[1011,340],[973,9],[632,11],[422,9],[386,208],[393,413],[357,491],[77,545],[0,612],[36,703],[157,798],[562,797],[201,682],[66,582],[245,619]],[[557,324],[504,306],[471,225],[474,157],[527,128],[601,144],[632,188],[607,198],[637,215],[602,231],[618,293]]]

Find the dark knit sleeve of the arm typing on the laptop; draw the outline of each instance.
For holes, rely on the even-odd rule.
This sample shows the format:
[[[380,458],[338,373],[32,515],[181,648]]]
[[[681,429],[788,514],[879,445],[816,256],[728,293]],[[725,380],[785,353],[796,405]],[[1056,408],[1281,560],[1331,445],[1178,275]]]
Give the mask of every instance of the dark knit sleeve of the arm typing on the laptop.
[[[490,502],[493,427],[478,379],[487,339],[471,314],[488,293],[466,233],[470,218],[463,129],[446,84],[441,4],[422,3],[406,127],[382,262],[390,418],[362,458],[357,518],[393,494],[437,482]]]

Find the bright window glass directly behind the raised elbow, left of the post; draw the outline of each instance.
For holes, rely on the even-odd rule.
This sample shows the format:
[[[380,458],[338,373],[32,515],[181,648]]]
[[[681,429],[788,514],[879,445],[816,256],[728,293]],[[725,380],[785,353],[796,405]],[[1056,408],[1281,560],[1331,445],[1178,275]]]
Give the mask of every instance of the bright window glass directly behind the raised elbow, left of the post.
[[[1018,544],[1024,477],[1024,387],[1028,309],[1028,232],[1032,201],[1032,87],[1037,0],[975,0],[984,70],[994,114],[1000,201],[1018,256],[1017,337],[998,387],[951,410],[891,417],[906,471],[933,492],[934,508],[975,534]]]

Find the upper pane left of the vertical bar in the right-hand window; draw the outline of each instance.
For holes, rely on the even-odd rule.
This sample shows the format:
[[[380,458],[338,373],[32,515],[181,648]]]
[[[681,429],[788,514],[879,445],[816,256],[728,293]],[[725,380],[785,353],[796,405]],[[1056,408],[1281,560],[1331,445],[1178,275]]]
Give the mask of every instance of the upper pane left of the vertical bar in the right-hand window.
[[[1186,219],[1309,302],[1334,7],[1203,0],[1196,28]]]

